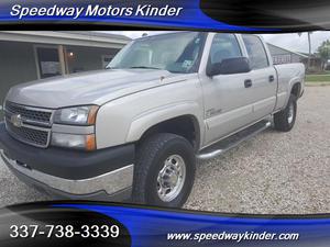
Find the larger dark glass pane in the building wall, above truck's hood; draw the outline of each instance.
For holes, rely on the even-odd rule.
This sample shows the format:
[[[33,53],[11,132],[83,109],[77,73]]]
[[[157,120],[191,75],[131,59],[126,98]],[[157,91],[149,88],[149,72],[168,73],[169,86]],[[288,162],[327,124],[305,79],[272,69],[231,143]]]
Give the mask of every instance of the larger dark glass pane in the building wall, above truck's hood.
[[[40,79],[63,74],[57,46],[36,46],[35,55]]]

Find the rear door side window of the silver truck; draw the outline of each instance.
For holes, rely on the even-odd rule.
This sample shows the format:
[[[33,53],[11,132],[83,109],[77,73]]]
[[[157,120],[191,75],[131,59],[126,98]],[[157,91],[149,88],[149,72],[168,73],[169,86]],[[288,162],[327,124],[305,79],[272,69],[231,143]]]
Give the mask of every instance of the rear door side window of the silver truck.
[[[268,67],[268,58],[262,41],[254,35],[242,35],[252,69]]]

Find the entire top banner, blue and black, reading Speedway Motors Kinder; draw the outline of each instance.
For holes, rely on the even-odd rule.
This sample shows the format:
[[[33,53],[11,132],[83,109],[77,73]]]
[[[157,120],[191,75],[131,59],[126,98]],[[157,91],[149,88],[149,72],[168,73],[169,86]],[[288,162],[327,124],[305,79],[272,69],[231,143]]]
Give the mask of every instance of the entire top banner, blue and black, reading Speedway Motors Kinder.
[[[308,2],[310,9],[300,14],[306,1],[19,1],[0,3],[0,22],[4,24],[87,24],[147,29],[196,29],[231,32],[284,32],[329,29],[324,15],[327,1]],[[288,12],[287,9],[290,9]],[[305,10],[306,12],[306,10]]]

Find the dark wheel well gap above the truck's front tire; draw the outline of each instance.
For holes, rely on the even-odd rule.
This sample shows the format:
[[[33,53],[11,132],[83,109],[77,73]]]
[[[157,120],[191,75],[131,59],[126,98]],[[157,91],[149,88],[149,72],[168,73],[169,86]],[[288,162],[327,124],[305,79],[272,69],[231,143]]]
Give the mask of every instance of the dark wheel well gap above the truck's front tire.
[[[172,133],[185,137],[194,147],[199,148],[200,133],[199,124],[195,116],[183,115],[170,120],[166,120],[150,127],[141,137],[140,142],[143,142],[151,135],[156,133]]]

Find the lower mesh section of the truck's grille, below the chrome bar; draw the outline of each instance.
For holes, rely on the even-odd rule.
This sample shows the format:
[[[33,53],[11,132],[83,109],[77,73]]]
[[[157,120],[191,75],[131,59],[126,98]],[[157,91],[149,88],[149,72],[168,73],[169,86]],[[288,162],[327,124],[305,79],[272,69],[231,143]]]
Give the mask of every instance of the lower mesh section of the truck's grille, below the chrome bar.
[[[18,141],[38,147],[48,146],[51,135],[50,131],[30,128],[25,126],[16,127],[8,120],[6,120],[6,125],[9,134]]]

